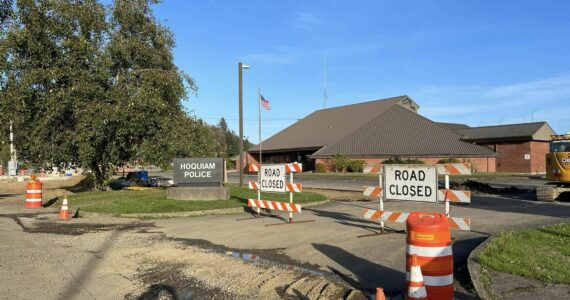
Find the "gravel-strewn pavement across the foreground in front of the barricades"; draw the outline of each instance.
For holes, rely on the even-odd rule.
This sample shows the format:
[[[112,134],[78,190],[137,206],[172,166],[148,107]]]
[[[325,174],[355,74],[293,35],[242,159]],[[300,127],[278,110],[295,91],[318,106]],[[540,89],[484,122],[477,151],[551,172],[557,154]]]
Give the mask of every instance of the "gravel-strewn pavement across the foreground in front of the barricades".
[[[38,286],[52,289],[53,298],[61,296],[62,291],[79,299],[127,294],[137,298],[152,294],[153,284],[158,283],[178,295],[194,293],[208,297],[226,293],[235,298],[260,297],[262,291],[255,287],[267,284],[267,278],[252,274],[258,274],[259,268],[265,270],[263,266],[281,267],[272,271],[279,275],[272,275],[271,278],[276,276],[278,280],[269,281],[271,288],[265,289],[266,294],[263,294],[268,297],[282,295],[271,294],[280,291],[280,286],[296,286],[299,282],[304,282],[304,290],[286,288],[281,292],[295,295],[295,291],[301,289],[310,293],[326,282],[327,286],[338,287],[340,291],[354,288],[371,292],[375,287],[383,287],[394,296],[405,287],[405,234],[401,231],[404,224],[387,223],[396,231],[390,234],[358,237],[379,229],[378,223],[362,218],[363,209],[377,208],[377,201],[342,201],[357,199],[360,193],[332,193],[330,195],[338,200],[304,208],[301,214],[295,215],[296,221],[313,222],[277,226],[265,225],[282,224],[285,215],[253,219],[244,212],[147,221],[87,215],[62,223],[55,220],[57,208],[32,212],[22,208],[21,195],[0,194],[3,228],[0,238],[11,241],[0,247],[0,257],[4,258],[0,266],[8,271],[3,272],[2,281],[10,284],[8,294],[15,298],[36,289],[25,289],[31,272],[35,274],[34,280],[49,280],[47,285],[43,282]],[[453,232],[459,298],[474,297],[469,289],[465,260],[489,234],[568,221],[570,203],[542,203],[531,199],[530,194],[479,194],[473,196],[472,204],[452,205],[452,216],[472,220],[471,232]],[[388,201],[385,209],[443,212],[444,206]],[[49,246],[48,252],[44,249],[46,246]],[[244,257],[243,254],[256,255],[262,265],[227,260],[229,256]],[[181,261],[181,257],[184,260]],[[157,262],[160,262],[158,266]],[[230,264],[241,271],[227,278],[224,274]],[[301,272],[291,275],[284,271],[291,268]],[[62,279],[58,280],[58,276]],[[250,278],[247,284],[251,286],[237,280],[241,277]],[[299,278],[305,279],[299,281]],[[307,278],[320,278],[320,281]],[[109,288],[93,292],[100,286]],[[37,288],[36,292],[41,294],[44,290]]]

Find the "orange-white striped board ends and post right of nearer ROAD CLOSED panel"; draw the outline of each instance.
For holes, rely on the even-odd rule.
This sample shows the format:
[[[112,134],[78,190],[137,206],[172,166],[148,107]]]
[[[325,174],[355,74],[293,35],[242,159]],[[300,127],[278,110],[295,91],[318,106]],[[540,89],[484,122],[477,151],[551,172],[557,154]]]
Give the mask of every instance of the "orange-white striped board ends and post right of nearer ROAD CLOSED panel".
[[[449,175],[471,175],[471,164],[468,163],[449,163],[438,164],[437,173],[445,175],[445,189],[438,191],[438,199],[445,202],[445,215],[450,216],[449,202],[471,203],[471,192],[450,190]],[[443,197],[442,197],[443,196]]]

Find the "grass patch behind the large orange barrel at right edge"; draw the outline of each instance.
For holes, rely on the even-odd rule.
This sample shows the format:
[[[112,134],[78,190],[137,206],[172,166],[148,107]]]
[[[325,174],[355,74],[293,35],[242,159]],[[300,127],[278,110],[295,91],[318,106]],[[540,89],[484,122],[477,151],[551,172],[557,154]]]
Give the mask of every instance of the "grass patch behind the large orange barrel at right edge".
[[[570,284],[570,223],[502,233],[480,262],[499,272]]]

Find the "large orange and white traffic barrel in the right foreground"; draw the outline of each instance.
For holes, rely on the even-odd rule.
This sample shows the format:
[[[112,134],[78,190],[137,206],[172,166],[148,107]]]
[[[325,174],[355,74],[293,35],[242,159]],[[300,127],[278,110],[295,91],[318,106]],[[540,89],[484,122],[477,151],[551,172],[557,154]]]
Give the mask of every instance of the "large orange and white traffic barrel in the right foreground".
[[[406,221],[406,277],[412,256],[422,270],[429,299],[453,299],[453,252],[449,221],[437,212],[412,212]]]

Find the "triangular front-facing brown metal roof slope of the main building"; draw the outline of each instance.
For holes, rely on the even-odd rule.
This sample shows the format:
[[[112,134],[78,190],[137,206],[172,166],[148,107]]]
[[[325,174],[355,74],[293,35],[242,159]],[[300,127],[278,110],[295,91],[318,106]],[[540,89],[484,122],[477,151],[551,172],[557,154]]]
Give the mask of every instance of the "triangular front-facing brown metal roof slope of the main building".
[[[392,106],[354,132],[323,147],[314,157],[349,156],[494,156],[496,152],[460,140],[455,131]]]

